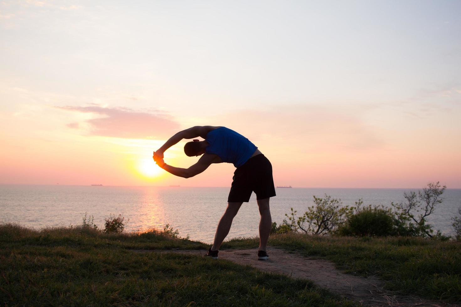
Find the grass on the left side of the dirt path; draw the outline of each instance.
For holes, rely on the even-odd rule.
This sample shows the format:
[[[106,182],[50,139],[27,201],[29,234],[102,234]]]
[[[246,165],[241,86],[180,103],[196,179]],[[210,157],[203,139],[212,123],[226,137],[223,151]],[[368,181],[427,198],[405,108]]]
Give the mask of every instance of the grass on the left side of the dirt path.
[[[151,230],[104,234],[89,227],[36,231],[0,225],[5,306],[357,306],[312,282],[231,261],[133,249],[205,249]]]

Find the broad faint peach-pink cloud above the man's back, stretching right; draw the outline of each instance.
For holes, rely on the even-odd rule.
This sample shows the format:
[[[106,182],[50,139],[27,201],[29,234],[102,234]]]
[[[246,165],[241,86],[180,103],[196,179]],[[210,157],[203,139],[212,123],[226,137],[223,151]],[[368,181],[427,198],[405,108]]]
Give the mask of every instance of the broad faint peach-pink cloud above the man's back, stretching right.
[[[215,116],[210,125],[236,127],[237,132],[250,140],[282,142],[300,148],[383,148],[385,141],[377,128],[366,124],[361,116],[356,110],[340,107],[278,105],[264,110],[239,110]]]

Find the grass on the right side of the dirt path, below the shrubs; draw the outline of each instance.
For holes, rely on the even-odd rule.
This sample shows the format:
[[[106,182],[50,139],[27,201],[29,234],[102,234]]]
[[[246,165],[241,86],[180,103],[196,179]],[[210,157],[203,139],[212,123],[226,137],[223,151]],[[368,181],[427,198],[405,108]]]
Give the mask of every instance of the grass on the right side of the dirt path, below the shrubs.
[[[222,248],[254,248],[258,244],[258,238],[236,238]],[[326,258],[348,273],[378,275],[388,290],[461,302],[461,242],[287,233],[271,236],[269,244],[307,257]]]

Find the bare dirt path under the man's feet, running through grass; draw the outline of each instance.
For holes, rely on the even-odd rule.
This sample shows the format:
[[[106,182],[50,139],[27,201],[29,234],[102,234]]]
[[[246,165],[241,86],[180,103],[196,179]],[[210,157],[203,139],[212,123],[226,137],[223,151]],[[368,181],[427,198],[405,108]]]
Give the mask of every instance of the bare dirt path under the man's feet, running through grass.
[[[165,250],[162,252],[206,254],[204,250]],[[269,260],[258,261],[257,249],[228,249],[219,251],[219,259],[251,265],[265,272],[282,273],[292,278],[310,279],[331,292],[359,301],[365,306],[457,306],[384,291],[382,289],[384,283],[379,278],[363,278],[344,274],[338,271],[331,261],[309,259],[276,248],[268,250],[268,254]]]

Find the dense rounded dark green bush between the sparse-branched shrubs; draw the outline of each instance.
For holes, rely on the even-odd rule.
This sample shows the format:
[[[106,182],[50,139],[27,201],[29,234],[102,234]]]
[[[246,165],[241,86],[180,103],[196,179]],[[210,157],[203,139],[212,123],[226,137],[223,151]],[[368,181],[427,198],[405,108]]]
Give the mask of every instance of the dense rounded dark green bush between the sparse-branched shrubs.
[[[394,232],[394,219],[390,209],[372,207],[358,209],[338,231],[341,235],[353,236],[390,236]]]

